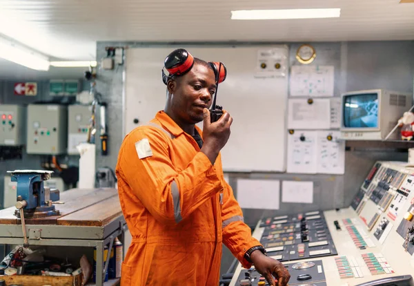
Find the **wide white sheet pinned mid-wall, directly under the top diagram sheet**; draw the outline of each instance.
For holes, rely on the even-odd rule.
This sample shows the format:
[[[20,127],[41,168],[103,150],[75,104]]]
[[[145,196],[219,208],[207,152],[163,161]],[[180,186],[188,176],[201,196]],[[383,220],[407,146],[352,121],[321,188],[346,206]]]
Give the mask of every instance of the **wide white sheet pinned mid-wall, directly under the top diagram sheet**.
[[[330,129],[330,99],[288,99],[288,129]]]

